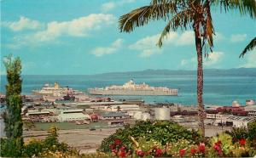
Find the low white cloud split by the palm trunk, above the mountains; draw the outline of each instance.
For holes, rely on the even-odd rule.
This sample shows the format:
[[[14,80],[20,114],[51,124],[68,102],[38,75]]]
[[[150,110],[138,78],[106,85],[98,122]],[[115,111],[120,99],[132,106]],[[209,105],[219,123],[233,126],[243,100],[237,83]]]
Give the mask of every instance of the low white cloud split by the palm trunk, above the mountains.
[[[204,58],[203,65],[208,67],[211,65],[217,65],[224,56],[223,52],[212,52],[209,53],[208,58]],[[180,65],[184,68],[195,69],[197,65],[197,59],[182,59]]]

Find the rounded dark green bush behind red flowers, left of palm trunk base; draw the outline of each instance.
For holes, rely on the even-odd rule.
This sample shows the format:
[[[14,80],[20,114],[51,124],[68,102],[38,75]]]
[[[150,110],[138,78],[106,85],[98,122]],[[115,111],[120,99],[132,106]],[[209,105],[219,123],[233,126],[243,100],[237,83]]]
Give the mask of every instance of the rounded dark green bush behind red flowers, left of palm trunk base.
[[[108,138],[103,139],[101,152],[110,152],[109,145],[113,144],[115,139],[122,140],[126,148],[132,148],[131,138],[145,138],[146,141],[154,139],[160,144],[167,142],[177,142],[178,139],[188,139],[199,142],[200,134],[195,131],[189,131],[186,128],[172,121],[137,121],[134,125],[127,125],[124,129],[118,129]]]

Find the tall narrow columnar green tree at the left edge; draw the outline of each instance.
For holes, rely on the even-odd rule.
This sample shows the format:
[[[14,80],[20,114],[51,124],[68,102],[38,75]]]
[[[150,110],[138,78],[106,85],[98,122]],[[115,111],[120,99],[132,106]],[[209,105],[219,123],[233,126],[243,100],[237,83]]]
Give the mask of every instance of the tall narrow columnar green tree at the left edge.
[[[4,131],[7,139],[1,141],[1,156],[18,157],[22,154],[22,120],[20,116],[21,100],[21,62],[19,58],[9,56],[4,61],[8,83],[6,85],[7,109],[3,114]]]

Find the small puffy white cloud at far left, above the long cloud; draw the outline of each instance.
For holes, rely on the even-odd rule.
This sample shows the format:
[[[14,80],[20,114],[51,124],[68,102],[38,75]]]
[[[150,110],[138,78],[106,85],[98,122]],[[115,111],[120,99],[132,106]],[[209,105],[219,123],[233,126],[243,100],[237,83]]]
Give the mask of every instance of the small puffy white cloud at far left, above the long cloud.
[[[41,24],[37,20],[30,20],[24,16],[20,16],[20,20],[14,22],[6,22],[2,23],[3,26],[8,27],[12,31],[23,31],[23,30],[36,30],[40,28],[43,24]]]

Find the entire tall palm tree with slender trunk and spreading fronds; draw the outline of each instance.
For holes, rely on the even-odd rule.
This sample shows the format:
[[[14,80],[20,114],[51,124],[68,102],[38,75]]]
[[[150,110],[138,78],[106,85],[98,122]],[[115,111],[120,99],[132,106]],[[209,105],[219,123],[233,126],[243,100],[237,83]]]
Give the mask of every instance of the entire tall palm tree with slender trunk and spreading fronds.
[[[161,32],[158,46],[168,33],[177,29],[191,28],[195,33],[195,48],[197,53],[197,102],[199,128],[205,137],[204,105],[203,105],[203,48],[204,54],[212,52],[214,28],[212,25],[212,6],[220,6],[220,10],[228,12],[239,9],[241,14],[256,17],[255,0],[151,0],[148,6],[132,10],[119,18],[119,30],[131,32],[135,27],[148,24],[150,20],[165,20],[166,27]]]

